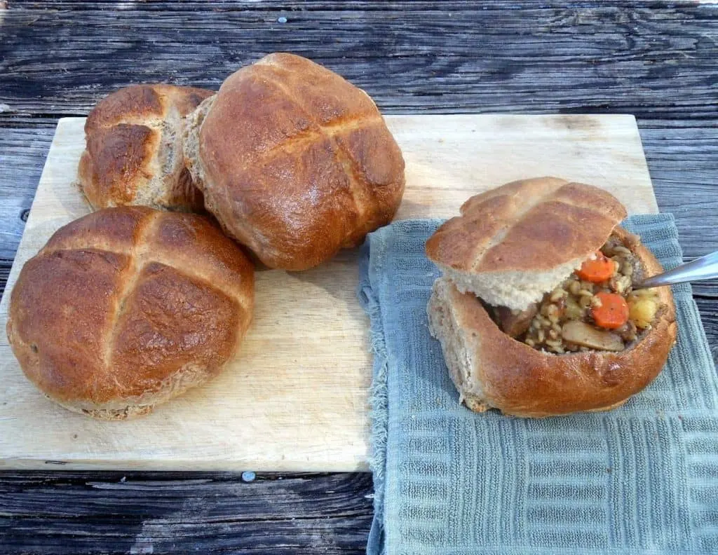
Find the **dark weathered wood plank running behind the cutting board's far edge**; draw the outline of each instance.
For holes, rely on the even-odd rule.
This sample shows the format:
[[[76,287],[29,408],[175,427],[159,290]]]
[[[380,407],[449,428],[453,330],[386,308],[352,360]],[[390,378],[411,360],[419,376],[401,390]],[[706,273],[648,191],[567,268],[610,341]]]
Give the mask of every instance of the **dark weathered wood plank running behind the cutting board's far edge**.
[[[228,73],[276,50],[326,64],[385,111],[614,111],[676,119],[712,118],[718,109],[711,102],[714,5],[528,3],[518,10],[489,1],[456,3],[456,11],[435,3],[426,11],[428,3],[405,2],[340,11],[294,2],[279,23],[279,4],[223,2],[205,6],[201,17],[174,3],[132,2],[121,10],[36,4],[12,3],[17,7],[4,18],[0,102],[9,113],[87,113],[101,95],[130,83],[216,88]]]

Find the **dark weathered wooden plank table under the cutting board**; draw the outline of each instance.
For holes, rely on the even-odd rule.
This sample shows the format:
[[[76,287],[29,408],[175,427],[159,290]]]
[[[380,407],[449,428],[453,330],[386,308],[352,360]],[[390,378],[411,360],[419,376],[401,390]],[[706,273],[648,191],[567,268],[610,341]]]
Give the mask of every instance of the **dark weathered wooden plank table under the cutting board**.
[[[384,113],[633,113],[686,259],[718,250],[718,5],[0,1],[0,291],[57,118],[289,50]],[[718,286],[694,286],[714,358]],[[1,385],[0,385],[1,387]],[[368,474],[0,472],[0,552],[361,553]]]

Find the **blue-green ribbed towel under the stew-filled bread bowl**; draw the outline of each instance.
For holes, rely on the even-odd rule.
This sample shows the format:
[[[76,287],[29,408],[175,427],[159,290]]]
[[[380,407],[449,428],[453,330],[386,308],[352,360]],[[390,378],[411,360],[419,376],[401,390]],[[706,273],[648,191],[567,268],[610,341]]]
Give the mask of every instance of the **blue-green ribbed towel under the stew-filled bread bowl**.
[[[718,553],[718,388],[689,285],[667,367],[607,413],[515,419],[460,406],[426,302],[437,220],[372,233],[359,297],[374,354],[370,555]],[[666,269],[671,215],[638,215]]]

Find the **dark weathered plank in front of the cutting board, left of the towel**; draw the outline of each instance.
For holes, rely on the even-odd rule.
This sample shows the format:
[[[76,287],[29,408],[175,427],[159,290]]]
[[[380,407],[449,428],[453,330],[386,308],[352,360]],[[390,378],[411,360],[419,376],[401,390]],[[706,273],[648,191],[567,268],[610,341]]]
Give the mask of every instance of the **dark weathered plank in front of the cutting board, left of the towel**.
[[[368,474],[4,472],[0,551],[363,553]]]

